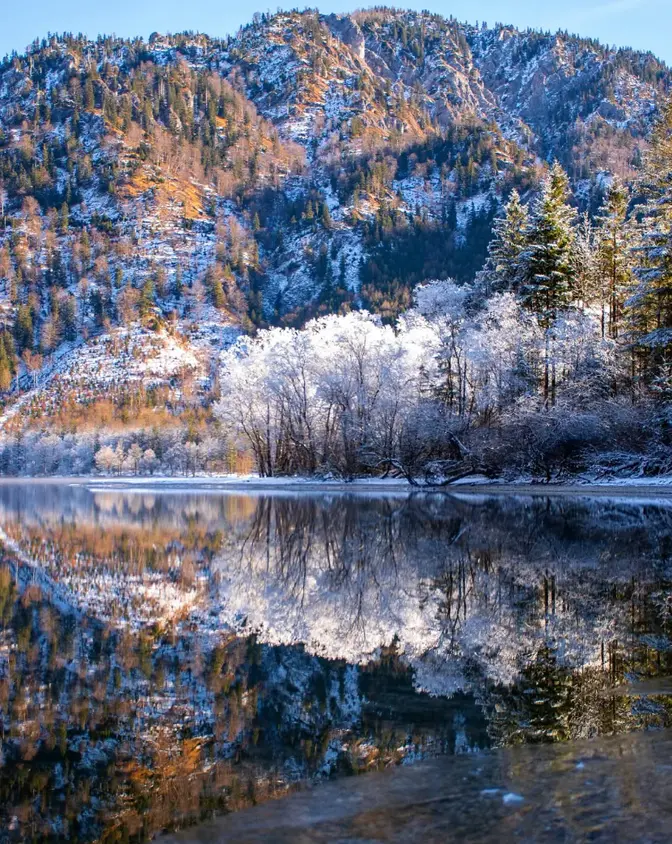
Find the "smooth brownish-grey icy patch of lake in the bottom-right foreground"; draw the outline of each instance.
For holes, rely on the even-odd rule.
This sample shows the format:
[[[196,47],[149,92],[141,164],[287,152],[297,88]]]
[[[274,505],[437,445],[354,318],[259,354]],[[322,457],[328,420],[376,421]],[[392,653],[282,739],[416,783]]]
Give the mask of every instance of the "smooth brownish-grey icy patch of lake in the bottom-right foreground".
[[[161,844],[668,844],[672,731],[438,756],[221,815]]]

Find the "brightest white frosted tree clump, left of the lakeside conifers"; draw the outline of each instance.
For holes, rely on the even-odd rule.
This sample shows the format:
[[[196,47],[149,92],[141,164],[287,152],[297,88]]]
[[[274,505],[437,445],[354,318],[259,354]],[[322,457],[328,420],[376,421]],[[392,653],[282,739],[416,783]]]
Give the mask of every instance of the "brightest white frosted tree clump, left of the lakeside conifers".
[[[385,467],[433,338],[421,319],[395,332],[364,313],[262,331],[224,355],[216,413],[262,475]]]

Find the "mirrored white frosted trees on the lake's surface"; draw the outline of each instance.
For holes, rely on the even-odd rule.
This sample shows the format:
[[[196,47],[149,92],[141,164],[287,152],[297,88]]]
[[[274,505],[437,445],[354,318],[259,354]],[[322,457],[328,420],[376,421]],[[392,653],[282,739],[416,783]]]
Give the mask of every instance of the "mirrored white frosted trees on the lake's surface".
[[[260,500],[217,561],[224,616],[360,663],[397,636],[433,693],[511,685],[544,654],[602,671],[613,650],[622,676],[633,612],[652,623],[633,590],[660,576],[669,524],[666,509],[609,502]]]

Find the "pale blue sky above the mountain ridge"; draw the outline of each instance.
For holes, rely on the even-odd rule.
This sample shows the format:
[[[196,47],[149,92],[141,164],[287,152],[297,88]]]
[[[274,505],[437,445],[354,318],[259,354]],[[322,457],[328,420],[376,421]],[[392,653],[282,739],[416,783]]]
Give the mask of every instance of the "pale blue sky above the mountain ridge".
[[[35,37],[47,32],[147,36],[155,30],[191,29],[227,35],[247,23],[253,12],[269,8],[264,0],[258,0],[258,4],[257,0],[28,0],[25,5],[3,0],[2,5],[0,56],[11,50],[23,52]],[[288,7],[295,5],[300,3],[287,3]],[[323,12],[345,12],[369,4],[361,0],[310,0],[307,5],[318,6]],[[373,0],[370,5],[374,5]],[[672,0],[400,0],[394,5],[430,9],[470,22],[567,29],[608,44],[651,50],[672,64]]]

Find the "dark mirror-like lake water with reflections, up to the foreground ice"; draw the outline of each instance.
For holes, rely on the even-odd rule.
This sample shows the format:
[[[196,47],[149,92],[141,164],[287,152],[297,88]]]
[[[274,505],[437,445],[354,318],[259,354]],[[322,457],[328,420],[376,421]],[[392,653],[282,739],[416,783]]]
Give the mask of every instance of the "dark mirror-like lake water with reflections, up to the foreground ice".
[[[17,484],[0,543],[2,842],[672,721],[664,501]]]

